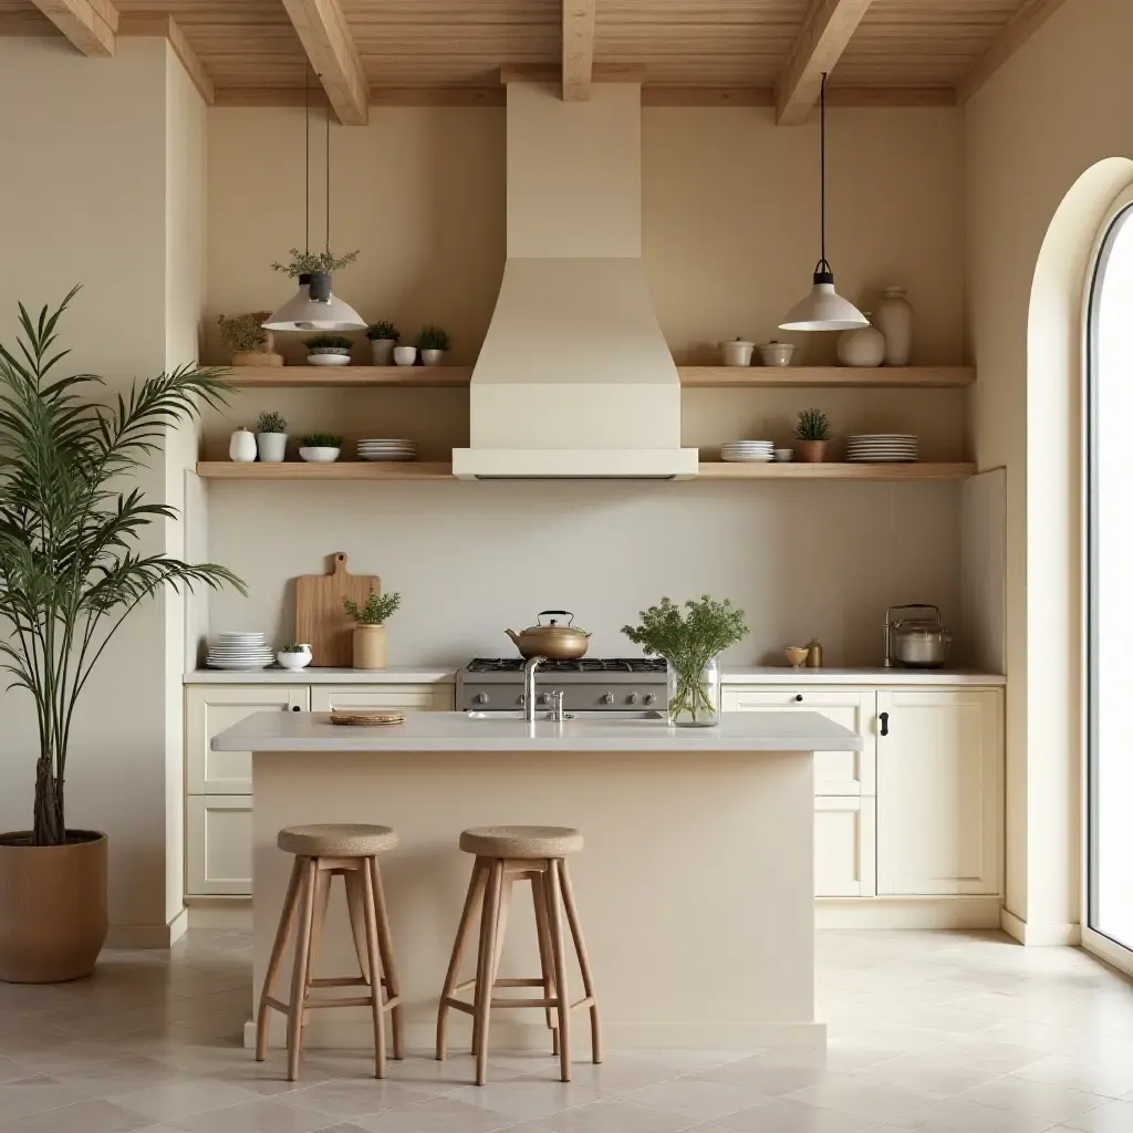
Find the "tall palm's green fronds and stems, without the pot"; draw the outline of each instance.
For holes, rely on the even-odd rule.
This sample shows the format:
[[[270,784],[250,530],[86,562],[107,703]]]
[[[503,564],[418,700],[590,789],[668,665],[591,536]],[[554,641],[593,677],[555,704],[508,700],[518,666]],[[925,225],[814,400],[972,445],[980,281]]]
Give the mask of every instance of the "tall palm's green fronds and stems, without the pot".
[[[0,667],[35,701],[35,846],[68,841],[75,706],[126,617],[165,586],[245,593],[224,566],[139,550],[177,512],[128,486],[169,428],[224,404],[221,372],[182,366],[109,404],[88,400],[102,378],[52,374],[69,352],[56,350],[56,331],[77,290],[36,318],[20,305],[17,347],[0,346]]]

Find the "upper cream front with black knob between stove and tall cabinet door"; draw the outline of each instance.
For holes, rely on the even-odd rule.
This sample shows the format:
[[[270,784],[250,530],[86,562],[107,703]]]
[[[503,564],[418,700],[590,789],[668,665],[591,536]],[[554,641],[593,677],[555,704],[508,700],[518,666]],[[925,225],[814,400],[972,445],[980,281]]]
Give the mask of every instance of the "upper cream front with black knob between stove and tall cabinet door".
[[[864,736],[863,751],[815,752],[815,794],[874,794],[874,705],[871,692],[857,689],[813,692],[810,689],[757,691],[726,687],[725,712],[817,712]]]

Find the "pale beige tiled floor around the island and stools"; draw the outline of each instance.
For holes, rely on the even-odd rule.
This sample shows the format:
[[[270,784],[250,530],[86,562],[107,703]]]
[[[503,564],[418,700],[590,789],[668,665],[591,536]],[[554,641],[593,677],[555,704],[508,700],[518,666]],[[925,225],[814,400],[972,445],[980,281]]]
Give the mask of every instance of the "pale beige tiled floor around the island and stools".
[[[613,1051],[555,1080],[543,1056],[392,1063],[238,1046],[247,938],[118,952],[90,980],[0,983],[0,1133],[1133,1133],[1133,986],[1071,948],[999,934],[824,932],[823,1060]]]

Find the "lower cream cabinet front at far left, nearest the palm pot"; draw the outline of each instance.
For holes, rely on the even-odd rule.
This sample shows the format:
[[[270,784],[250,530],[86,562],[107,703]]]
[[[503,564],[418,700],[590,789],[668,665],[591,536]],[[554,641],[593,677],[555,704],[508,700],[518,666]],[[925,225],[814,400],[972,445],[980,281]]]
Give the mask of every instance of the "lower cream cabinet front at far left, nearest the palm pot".
[[[189,795],[185,892],[252,895],[252,799]]]

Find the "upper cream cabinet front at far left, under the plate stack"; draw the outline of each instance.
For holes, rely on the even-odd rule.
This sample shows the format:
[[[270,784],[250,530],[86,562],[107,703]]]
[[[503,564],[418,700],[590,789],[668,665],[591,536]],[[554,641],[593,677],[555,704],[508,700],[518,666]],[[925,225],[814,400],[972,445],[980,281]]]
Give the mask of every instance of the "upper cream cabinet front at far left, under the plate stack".
[[[210,740],[254,712],[305,712],[307,704],[306,685],[198,684],[186,689],[186,793],[250,794],[252,752],[210,751]]]

